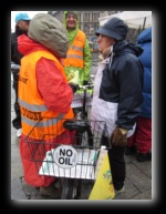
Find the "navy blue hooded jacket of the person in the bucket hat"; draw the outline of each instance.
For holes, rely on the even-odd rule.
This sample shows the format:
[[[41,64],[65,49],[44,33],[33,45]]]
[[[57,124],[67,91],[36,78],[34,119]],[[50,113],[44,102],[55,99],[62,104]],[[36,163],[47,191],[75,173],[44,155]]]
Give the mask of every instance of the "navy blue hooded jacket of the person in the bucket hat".
[[[112,64],[103,70],[100,99],[118,103],[116,125],[132,129],[143,102],[144,68],[138,59],[143,49],[126,41],[113,45]],[[111,58],[108,58],[110,60]]]

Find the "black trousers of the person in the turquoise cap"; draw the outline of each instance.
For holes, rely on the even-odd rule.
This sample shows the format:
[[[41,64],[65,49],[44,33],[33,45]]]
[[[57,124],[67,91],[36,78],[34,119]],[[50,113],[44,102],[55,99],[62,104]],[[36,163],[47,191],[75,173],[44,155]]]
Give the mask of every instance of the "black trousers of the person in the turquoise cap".
[[[12,125],[17,130],[21,129],[21,112],[20,112],[20,106],[18,103],[18,81],[19,81],[19,75],[13,74],[13,84],[12,88],[15,92],[15,101],[14,101],[14,112],[15,112],[15,118],[12,120]]]

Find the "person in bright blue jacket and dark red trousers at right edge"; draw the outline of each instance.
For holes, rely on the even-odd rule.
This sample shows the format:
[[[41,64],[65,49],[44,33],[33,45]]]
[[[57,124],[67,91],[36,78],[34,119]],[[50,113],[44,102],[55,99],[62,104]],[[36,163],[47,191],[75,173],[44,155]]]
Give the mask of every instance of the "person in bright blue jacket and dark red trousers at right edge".
[[[138,162],[152,160],[152,28],[144,30],[137,38],[144,49],[139,60],[144,65],[144,88],[142,111],[137,118],[135,133],[128,139],[126,154],[137,150]]]

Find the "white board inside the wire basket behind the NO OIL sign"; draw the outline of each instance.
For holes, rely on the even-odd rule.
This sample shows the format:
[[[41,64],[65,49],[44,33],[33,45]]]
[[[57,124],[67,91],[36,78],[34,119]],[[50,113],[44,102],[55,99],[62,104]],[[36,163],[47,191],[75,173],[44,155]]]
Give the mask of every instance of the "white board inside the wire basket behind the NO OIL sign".
[[[95,179],[95,161],[97,151],[89,149],[77,149],[77,163],[73,167],[60,167],[53,161],[55,149],[46,152],[42,166],[40,167],[40,175],[49,175],[56,177],[75,177],[75,179]]]

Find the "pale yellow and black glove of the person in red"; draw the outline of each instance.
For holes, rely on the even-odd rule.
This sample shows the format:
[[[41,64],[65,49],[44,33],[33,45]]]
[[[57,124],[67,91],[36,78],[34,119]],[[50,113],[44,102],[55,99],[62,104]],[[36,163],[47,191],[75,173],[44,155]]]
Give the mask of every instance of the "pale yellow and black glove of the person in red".
[[[69,85],[72,88],[73,93],[75,93],[75,91],[79,88],[79,71],[71,71],[70,74],[68,75],[68,83]]]

